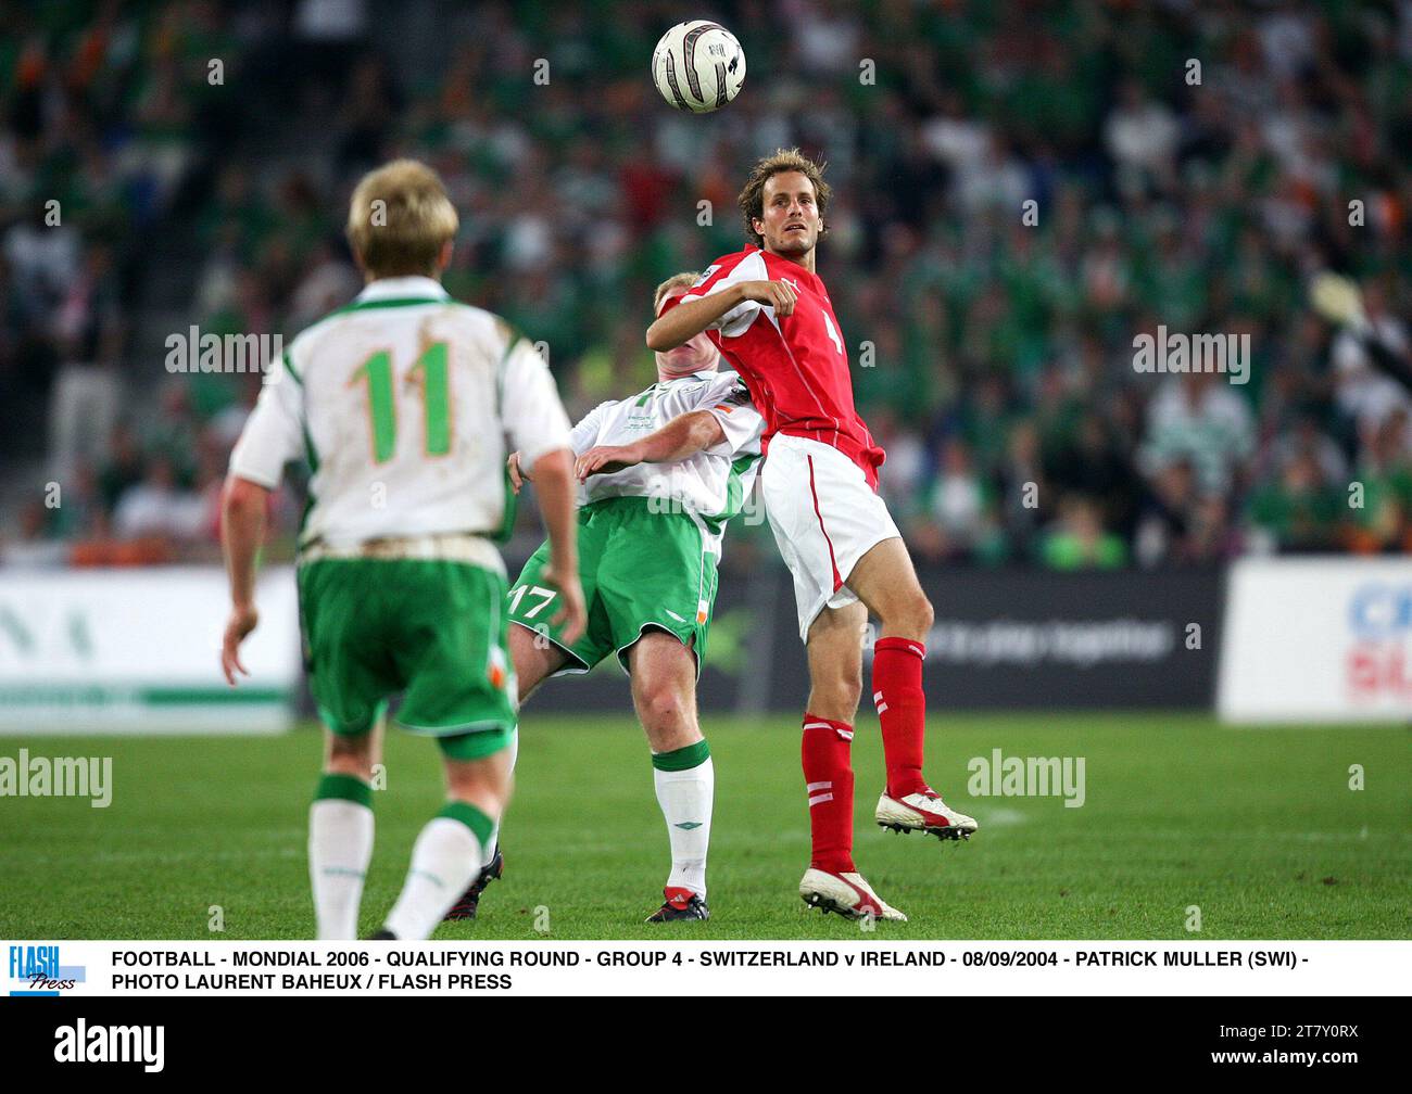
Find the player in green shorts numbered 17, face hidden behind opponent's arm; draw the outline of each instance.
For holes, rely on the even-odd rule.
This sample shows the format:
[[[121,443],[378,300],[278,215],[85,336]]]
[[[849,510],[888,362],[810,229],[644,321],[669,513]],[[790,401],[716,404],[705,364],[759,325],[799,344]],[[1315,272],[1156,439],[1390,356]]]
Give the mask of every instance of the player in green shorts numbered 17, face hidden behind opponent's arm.
[[[696,274],[679,274],[662,282],[658,311],[695,279]],[[650,923],[710,915],[706,848],[714,774],[696,719],[696,678],[716,600],[722,536],[754,483],[762,425],[740,377],[716,371],[719,360],[705,336],[659,353],[658,383],[600,404],[573,428],[583,480],[579,558],[589,610],[583,637],[573,639],[549,623],[558,593],[544,580],[548,545],[510,590],[515,624],[510,655],[521,696],[548,676],[587,672],[614,654],[631,679],[672,851],[664,902]],[[525,466],[525,453],[511,456],[513,480]],[[481,891],[503,865],[493,848],[453,918],[474,916]]]

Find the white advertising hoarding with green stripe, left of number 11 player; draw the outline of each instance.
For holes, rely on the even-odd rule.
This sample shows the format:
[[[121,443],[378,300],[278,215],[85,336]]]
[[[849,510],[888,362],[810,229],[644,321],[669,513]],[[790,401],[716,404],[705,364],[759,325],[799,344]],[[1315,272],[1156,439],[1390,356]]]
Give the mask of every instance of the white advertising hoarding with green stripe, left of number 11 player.
[[[294,719],[294,569],[260,576],[250,676],[220,675],[215,566],[0,570],[0,733],[278,733]]]

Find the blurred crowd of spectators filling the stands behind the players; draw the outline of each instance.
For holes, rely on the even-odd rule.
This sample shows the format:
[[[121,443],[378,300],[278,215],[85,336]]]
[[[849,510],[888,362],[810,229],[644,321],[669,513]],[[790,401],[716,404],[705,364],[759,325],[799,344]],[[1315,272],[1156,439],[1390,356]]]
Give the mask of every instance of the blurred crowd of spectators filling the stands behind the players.
[[[829,161],[819,272],[921,558],[1412,549],[1412,398],[1367,347],[1409,351],[1412,3],[712,13],[748,76],[695,117],[647,75],[665,0],[7,8],[0,452],[66,368],[119,375],[120,409],[61,505],[23,494],[4,558],[215,553],[258,377],[143,351],[155,236],[188,256],[175,329],[288,339],[359,288],[359,174],[425,158],[462,210],[448,288],[544,342],[583,412],[651,383],[652,287],[744,244],[744,171],[789,145]],[[1326,268],[1360,329],[1310,309]],[[1250,381],[1137,371],[1159,325],[1248,336]]]

